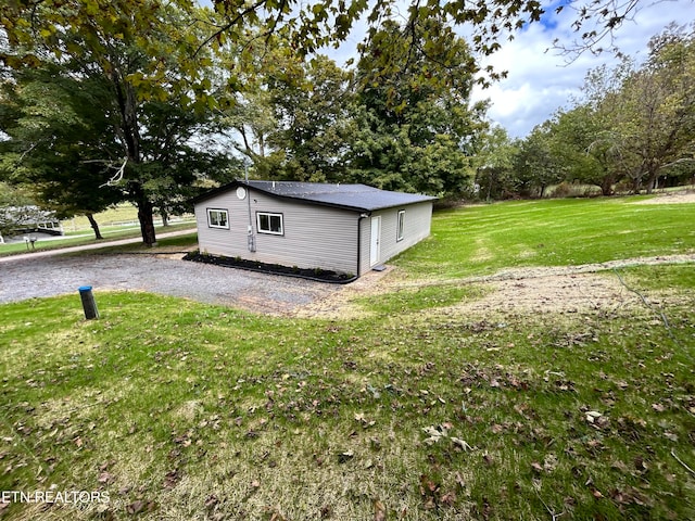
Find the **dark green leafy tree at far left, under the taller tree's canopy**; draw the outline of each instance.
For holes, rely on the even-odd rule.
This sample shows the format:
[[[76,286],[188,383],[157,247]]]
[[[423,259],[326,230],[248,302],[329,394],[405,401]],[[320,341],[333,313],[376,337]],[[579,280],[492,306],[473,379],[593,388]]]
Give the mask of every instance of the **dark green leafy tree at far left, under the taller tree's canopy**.
[[[54,67],[15,75],[0,94],[0,124],[10,138],[0,143],[2,177],[29,189],[59,218],[86,215],[97,239],[93,214],[124,198],[104,181],[118,149],[103,94],[103,82],[61,78]]]

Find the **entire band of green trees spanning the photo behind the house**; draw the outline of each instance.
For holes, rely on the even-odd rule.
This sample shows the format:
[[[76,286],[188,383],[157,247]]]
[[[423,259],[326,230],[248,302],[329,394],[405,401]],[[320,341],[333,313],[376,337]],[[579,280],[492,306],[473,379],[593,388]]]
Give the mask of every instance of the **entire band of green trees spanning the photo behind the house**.
[[[630,16],[632,8],[604,3],[615,20]],[[494,199],[543,194],[560,180],[597,182],[606,193],[626,178],[649,188],[665,171],[690,168],[692,114],[673,94],[692,96],[690,34],[656,38],[649,63],[626,66],[615,90],[590,89],[576,110],[510,142],[490,127],[486,104],[471,102],[476,81],[502,75],[481,71],[473,55],[497,50],[501,30],[538,22],[539,2],[401,11],[384,1],[369,11],[365,0],[317,0],[296,13],[291,4],[9,2],[0,14],[0,188],[30,191],[62,217],[88,216],[97,238],[93,214],[129,201],[143,242],[154,244],[155,212],[190,209],[201,191],[244,175]],[[358,59],[342,67],[316,54],[363,14]],[[468,42],[454,30],[465,23],[476,27]],[[595,74],[587,85],[598,89],[610,79],[601,74],[614,73]],[[636,144],[650,117],[636,101],[647,79],[655,110],[669,107],[654,132],[678,123],[661,148]]]

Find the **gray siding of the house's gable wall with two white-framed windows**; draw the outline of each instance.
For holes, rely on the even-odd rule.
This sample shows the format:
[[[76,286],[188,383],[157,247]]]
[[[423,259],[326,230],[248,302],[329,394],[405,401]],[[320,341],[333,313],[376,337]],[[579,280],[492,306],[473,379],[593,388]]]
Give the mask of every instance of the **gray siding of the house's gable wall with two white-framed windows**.
[[[195,205],[201,252],[300,268],[357,272],[358,213],[283,201],[255,190],[248,192],[244,200],[230,190]],[[248,249],[249,198],[255,252]],[[207,208],[227,209],[229,229],[210,228]],[[258,233],[256,212],[282,214],[285,234]]]

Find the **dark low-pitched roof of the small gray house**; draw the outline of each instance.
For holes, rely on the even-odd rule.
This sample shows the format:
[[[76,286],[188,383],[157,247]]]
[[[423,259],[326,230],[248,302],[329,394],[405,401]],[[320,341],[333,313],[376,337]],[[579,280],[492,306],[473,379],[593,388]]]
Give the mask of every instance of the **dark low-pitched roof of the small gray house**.
[[[281,199],[293,199],[309,204],[320,204],[357,212],[374,212],[437,200],[437,198],[429,195],[392,192],[368,187],[367,185],[237,180],[200,195],[194,202],[204,201],[236,187],[249,187]]]

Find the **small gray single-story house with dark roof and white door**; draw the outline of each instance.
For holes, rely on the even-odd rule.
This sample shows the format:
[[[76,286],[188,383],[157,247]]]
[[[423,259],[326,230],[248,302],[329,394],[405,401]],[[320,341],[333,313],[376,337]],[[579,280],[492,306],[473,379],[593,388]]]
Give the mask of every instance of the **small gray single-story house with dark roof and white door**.
[[[237,180],[193,200],[201,253],[364,275],[430,234],[437,198]]]

